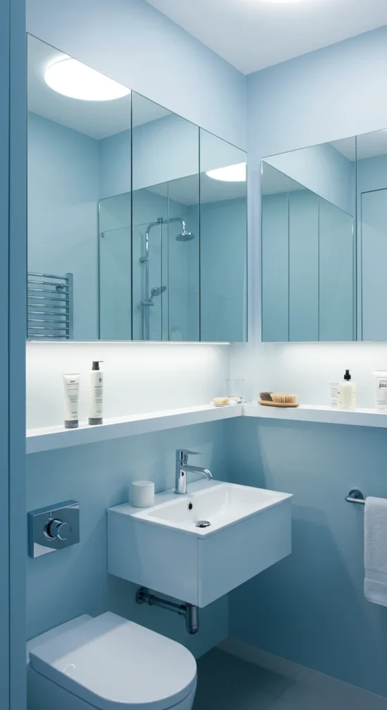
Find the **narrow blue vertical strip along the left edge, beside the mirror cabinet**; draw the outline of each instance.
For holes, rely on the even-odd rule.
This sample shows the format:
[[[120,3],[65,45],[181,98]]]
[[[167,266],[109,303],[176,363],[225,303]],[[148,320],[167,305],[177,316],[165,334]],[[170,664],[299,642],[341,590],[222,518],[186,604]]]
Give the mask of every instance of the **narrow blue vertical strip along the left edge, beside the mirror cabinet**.
[[[9,348],[10,710],[26,707],[26,158],[26,6],[9,0],[9,298],[0,325]]]

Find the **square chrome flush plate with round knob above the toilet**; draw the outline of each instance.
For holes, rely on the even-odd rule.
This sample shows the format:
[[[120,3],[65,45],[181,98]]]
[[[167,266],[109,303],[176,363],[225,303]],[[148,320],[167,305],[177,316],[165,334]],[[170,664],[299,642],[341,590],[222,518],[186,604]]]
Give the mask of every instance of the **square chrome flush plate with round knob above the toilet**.
[[[40,557],[79,542],[79,503],[65,501],[28,513],[28,555]]]

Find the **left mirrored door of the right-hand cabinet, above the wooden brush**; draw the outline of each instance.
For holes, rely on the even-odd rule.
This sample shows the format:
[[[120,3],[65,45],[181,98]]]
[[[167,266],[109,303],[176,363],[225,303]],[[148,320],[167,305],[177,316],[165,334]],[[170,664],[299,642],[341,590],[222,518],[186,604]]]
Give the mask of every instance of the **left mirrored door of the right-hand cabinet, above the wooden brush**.
[[[262,160],[262,339],[357,339],[356,139]]]

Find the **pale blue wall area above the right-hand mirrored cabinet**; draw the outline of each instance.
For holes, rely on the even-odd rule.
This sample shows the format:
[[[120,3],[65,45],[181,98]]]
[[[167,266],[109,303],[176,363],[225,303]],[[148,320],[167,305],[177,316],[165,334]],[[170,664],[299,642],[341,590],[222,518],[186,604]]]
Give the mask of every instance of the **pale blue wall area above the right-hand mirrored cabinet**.
[[[385,128],[386,39],[384,26],[250,74],[247,133],[254,164],[264,155]]]

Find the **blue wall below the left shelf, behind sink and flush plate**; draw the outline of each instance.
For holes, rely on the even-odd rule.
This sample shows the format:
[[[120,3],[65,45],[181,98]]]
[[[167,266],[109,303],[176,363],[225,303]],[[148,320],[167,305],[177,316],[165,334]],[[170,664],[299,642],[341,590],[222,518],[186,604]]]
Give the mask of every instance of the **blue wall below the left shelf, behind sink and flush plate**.
[[[208,466],[215,478],[225,479],[224,441],[230,423],[182,427],[27,457],[28,510],[69,498],[81,506],[79,545],[28,559],[28,638],[79,614],[96,615],[106,609],[179,640],[196,655],[227,636],[227,597],[201,611],[201,628],[190,637],[183,619],[139,607],[134,603],[135,585],[106,574],[106,508],[128,501],[130,481],[150,479],[156,491],[172,488],[178,448],[201,452],[198,464]],[[50,593],[44,594],[45,589]]]

